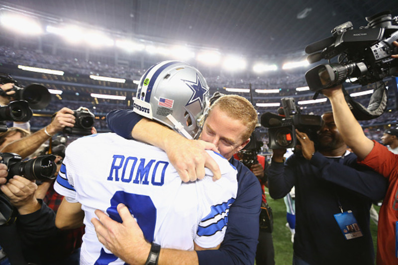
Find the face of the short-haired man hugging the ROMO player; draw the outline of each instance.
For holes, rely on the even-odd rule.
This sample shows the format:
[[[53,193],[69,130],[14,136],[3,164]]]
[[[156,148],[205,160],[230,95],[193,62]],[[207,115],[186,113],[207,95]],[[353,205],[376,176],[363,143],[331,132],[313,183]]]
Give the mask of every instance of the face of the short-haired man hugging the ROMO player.
[[[246,126],[240,120],[231,119],[226,113],[215,107],[211,110],[203,125],[199,139],[213,143],[220,154],[230,159],[250,141],[242,140]]]

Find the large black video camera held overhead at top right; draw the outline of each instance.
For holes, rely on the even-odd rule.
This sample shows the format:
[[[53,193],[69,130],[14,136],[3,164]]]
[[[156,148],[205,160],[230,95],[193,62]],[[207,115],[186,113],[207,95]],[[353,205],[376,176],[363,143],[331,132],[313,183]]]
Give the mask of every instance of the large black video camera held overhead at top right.
[[[351,22],[335,27],[329,38],[305,47],[310,63],[321,59],[329,64],[318,65],[305,73],[305,80],[312,91],[342,84],[347,78],[357,78],[362,86],[375,83],[398,73],[398,54],[393,42],[398,40],[398,16],[390,11],[366,17],[367,26],[353,29]],[[338,55],[337,63],[330,59]]]

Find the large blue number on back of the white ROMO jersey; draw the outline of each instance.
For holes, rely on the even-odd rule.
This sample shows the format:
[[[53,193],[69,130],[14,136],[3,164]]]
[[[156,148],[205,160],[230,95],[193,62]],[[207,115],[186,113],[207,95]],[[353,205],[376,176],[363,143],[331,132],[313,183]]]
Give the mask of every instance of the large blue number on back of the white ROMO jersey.
[[[156,225],[156,208],[152,199],[146,195],[132,194],[124,191],[117,191],[110,199],[110,207],[106,209],[109,217],[121,223],[121,217],[117,212],[117,205],[123,203],[126,205],[138,225],[144,233],[144,237],[149,242],[153,241]],[[101,249],[101,254],[95,265],[107,265],[117,260],[113,254],[107,254]]]

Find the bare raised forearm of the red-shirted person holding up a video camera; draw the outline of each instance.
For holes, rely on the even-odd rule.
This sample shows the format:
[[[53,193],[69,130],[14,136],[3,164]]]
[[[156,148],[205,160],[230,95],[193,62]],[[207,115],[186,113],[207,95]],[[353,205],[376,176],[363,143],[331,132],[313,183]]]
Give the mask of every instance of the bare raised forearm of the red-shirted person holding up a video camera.
[[[374,143],[365,136],[361,125],[348,107],[341,85],[323,89],[322,93],[332,104],[334,122],[344,142],[358,156],[358,159],[363,160],[372,151]]]

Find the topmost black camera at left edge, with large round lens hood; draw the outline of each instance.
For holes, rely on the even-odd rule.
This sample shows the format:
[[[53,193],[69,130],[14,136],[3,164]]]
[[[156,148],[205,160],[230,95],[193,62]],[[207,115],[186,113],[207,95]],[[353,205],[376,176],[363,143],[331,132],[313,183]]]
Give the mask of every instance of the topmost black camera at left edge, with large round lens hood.
[[[13,83],[14,86],[9,91],[15,91],[15,94],[7,95],[6,92],[0,89],[1,96],[8,96],[15,98],[15,100],[26,100],[32,109],[43,109],[51,101],[51,93],[42,85],[30,84],[24,88],[18,87],[18,82],[10,75],[0,73],[0,84]]]

